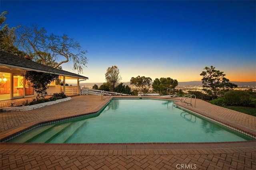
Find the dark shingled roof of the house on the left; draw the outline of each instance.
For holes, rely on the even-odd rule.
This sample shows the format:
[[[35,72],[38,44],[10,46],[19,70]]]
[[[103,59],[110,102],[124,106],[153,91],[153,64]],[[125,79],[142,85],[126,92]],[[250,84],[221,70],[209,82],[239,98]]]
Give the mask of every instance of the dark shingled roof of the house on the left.
[[[8,68],[16,68],[16,69],[26,70],[26,71],[47,72],[52,74],[58,74],[61,76],[70,76],[70,77],[80,78],[80,79],[81,78],[88,79],[88,77],[81,76],[79,74],[75,74],[65,70],[59,70],[57,68],[46,66],[40,63],[36,63],[32,60],[18,57],[14,54],[6,53],[4,51],[0,51],[0,66],[5,66]]]

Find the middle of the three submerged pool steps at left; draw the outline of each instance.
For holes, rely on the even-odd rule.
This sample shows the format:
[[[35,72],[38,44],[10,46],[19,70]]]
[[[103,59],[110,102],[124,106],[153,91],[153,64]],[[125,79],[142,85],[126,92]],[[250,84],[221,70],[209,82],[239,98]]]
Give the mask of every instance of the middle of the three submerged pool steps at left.
[[[42,131],[38,135],[32,137],[26,143],[46,143],[47,141],[51,140],[57,133],[64,131],[68,128],[72,122],[56,124],[45,131]]]

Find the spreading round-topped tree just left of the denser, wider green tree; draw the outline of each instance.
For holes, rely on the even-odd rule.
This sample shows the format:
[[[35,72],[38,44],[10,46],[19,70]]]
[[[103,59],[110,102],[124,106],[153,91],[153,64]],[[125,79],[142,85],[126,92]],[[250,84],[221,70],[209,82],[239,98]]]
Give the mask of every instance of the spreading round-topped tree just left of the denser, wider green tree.
[[[137,76],[136,78],[132,77],[130,80],[130,84],[136,86],[139,92],[148,90],[150,88],[151,82],[152,79],[150,77],[145,76]]]

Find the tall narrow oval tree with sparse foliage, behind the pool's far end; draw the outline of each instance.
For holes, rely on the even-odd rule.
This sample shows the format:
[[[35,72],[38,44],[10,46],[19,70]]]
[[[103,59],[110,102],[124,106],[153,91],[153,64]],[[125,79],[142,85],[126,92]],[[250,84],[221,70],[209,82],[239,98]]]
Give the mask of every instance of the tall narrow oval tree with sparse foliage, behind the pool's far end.
[[[110,84],[110,91],[114,92],[115,87],[118,85],[122,77],[119,75],[119,69],[117,66],[108,67],[105,74],[107,83]]]

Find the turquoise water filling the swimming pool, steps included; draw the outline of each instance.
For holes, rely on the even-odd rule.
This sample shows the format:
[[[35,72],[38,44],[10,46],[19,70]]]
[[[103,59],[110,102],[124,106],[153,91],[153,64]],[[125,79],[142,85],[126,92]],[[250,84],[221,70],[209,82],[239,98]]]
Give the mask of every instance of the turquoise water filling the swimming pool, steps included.
[[[113,99],[90,117],[33,129],[17,143],[184,143],[254,140],[156,99]]]

